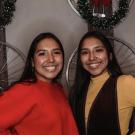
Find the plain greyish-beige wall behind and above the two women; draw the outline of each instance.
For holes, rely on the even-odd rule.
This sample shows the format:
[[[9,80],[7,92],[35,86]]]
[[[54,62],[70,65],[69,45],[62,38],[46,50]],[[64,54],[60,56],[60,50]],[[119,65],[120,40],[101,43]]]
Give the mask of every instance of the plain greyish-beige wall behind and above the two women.
[[[71,52],[87,31],[87,24],[71,9],[67,0],[18,0],[14,15],[12,23],[6,28],[7,42],[25,55],[38,33],[50,31],[61,39],[67,63]],[[134,15],[135,3],[128,17],[115,28],[114,33],[135,47]]]

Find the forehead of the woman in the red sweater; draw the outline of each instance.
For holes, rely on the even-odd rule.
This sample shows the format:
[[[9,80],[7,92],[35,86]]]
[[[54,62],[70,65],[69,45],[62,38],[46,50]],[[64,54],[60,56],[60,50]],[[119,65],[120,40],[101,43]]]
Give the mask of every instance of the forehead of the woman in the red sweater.
[[[60,45],[53,38],[45,38],[37,44],[38,49],[61,49]]]

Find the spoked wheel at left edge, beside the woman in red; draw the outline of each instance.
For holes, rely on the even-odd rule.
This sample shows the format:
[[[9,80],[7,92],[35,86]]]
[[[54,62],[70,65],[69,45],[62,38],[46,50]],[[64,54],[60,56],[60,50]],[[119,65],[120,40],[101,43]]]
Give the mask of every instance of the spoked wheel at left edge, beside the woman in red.
[[[5,85],[10,86],[17,81],[25,65],[25,56],[19,49],[7,42],[0,41],[0,54],[3,51],[4,55],[0,55],[0,76],[6,75],[0,78],[0,90],[3,90]]]

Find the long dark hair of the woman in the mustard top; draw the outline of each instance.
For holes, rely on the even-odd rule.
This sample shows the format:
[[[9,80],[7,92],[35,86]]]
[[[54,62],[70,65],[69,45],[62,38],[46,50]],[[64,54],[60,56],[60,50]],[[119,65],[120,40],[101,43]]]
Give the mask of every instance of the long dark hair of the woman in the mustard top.
[[[87,93],[88,85],[90,84],[91,74],[86,71],[80,61],[80,52],[83,45],[84,40],[88,38],[96,38],[100,40],[105,46],[108,53],[108,71],[112,76],[119,76],[122,74],[120,66],[116,60],[113,47],[109,39],[104,36],[102,33],[93,31],[87,32],[82,39],[80,40],[78,47],[78,57],[77,57],[77,65],[76,65],[76,75],[73,88],[70,91],[70,103],[75,115],[75,119],[78,124],[78,128],[80,130],[80,134],[83,134],[85,131],[82,130],[84,127],[84,104],[85,104],[85,96]],[[111,59],[110,59],[111,55]],[[85,127],[84,127],[85,129]]]

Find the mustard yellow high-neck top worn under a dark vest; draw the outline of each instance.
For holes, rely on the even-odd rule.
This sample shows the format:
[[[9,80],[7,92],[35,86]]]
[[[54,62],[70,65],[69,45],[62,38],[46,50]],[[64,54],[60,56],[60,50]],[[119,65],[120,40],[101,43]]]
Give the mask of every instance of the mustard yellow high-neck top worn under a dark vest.
[[[109,78],[108,72],[92,78],[88,87],[85,105],[85,123],[87,123],[89,110],[102,88],[105,81]],[[126,135],[128,132],[129,121],[131,118],[133,107],[135,107],[135,78],[130,75],[121,75],[117,81],[117,96],[118,96],[118,114],[121,128],[121,135]],[[86,125],[87,126],[87,125]],[[135,135],[135,132],[132,133]]]

